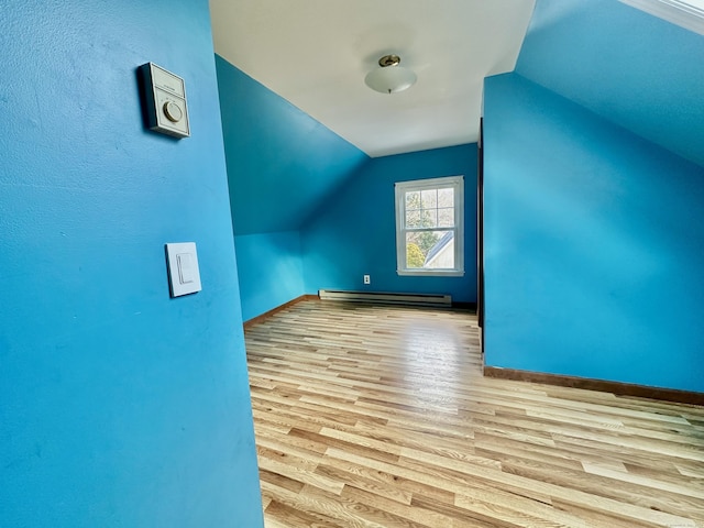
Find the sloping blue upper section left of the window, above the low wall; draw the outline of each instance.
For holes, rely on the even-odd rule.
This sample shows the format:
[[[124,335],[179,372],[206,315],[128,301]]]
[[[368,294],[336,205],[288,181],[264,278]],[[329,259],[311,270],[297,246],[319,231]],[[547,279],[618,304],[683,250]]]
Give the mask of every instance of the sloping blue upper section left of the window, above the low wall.
[[[216,56],[234,233],[298,230],[369,157]]]

